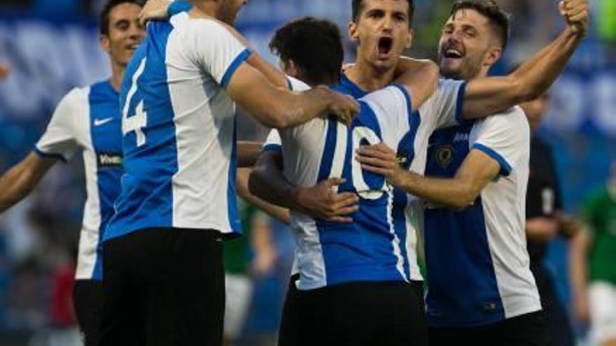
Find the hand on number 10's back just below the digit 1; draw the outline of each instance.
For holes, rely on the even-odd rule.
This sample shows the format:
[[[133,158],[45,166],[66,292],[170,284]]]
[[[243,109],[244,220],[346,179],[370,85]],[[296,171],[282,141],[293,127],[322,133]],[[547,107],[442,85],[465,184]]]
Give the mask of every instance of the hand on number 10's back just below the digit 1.
[[[302,212],[329,222],[349,223],[349,216],[358,210],[359,197],[352,192],[335,193],[333,187],[344,184],[340,178],[330,178],[314,187],[297,187],[295,203]]]

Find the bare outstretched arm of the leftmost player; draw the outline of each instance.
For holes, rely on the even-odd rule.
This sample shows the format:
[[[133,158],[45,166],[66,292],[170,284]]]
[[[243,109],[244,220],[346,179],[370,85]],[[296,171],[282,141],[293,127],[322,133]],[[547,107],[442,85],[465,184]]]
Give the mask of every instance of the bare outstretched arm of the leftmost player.
[[[32,152],[0,177],[0,213],[25,199],[57,159]]]

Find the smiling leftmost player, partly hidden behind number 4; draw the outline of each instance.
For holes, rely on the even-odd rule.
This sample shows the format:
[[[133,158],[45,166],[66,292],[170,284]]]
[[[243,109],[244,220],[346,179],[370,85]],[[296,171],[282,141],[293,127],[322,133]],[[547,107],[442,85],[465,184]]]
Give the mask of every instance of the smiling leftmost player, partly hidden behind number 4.
[[[34,152],[0,178],[0,212],[24,199],[58,161],[83,151],[87,200],[83,212],[73,303],[85,345],[98,345],[102,310],[102,233],[120,192],[122,144],[120,82],[137,45],[141,3],[109,0],[101,13],[100,43],[109,54],[111,77],[72,89],[57,105]]]

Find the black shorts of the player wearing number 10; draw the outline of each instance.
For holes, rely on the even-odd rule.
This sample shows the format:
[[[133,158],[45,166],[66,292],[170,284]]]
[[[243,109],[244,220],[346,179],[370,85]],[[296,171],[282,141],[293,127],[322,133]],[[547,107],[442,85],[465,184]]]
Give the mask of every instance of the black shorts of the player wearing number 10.
[[[286,296],[279,346],[428,345],[421,282],[353,282]]]

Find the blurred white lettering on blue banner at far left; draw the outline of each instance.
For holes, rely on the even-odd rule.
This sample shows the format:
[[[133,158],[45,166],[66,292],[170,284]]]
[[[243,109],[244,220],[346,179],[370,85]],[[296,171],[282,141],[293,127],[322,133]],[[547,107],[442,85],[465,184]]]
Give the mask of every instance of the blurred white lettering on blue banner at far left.
[[[11,66],[9,78],[0,83],[0,112],[13,117],[46,117],[72,87],[110,75],[97,29],[78,24],[4,22],[0,61]]]

